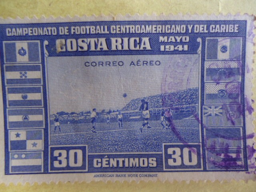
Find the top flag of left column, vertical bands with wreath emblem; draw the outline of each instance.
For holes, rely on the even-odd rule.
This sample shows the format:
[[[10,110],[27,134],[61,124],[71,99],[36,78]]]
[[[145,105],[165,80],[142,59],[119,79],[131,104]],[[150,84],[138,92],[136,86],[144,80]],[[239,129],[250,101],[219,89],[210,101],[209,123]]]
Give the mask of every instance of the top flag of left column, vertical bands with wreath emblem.
[[[39,41],[4,42],[6,63],[41,62]]]

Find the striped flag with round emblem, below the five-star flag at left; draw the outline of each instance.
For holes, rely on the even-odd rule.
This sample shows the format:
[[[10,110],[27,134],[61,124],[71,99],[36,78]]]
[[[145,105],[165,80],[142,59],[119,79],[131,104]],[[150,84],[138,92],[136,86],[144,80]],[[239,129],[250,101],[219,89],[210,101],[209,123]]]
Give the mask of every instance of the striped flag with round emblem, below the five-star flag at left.
[[[42,106],[41,87],[8,87],[8,106]]]

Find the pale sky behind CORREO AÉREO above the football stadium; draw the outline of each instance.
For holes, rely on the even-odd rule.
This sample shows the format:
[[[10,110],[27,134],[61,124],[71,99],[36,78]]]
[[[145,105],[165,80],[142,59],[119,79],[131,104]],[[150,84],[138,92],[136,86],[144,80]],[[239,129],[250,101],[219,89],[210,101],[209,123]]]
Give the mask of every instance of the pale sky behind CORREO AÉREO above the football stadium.
[[[47,62],[50,114],[118,110],[135,98],[198,87],[199,55],[48,57]]]

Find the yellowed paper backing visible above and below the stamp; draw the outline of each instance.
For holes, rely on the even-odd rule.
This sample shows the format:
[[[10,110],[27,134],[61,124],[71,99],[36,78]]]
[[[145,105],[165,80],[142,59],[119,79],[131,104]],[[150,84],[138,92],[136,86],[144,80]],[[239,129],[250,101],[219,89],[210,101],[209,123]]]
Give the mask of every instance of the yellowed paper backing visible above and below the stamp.
[[[96,16],[105,14],[253,14],[256,15],[256,0],[0,0],[0,17],[24,18],[49,16]],[[254,76],[256,72],[254,70]],[[256,84],[255,78],[253,80]],[[254,87],[256,94],[256,88]],[[255,99],[255,96],[254,96]],[[254,104],[256,108],[256,104]],[[255,112],[254,112],[255,115]],[[256,132],[256,131],[255,131]],[[4,165],[1,165],[4,166]],[[236,172],[234,172],[236,174]],[[33,175],[36,176],[36,175]],[[85,176],[85,174],[81,174]],[[193,178],[191,178],[193,180]],[[80,191],[173,191],[173,192],[255,192],[256,182],[91,182],[21,184],[5,186],[0,184],[0,192],[80,192]]]

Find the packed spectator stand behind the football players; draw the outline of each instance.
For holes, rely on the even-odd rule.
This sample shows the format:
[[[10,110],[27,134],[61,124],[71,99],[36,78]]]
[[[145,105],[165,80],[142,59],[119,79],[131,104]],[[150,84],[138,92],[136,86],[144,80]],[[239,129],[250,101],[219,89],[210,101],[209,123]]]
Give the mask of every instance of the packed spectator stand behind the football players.
[[[198,88],[188,88],[186,90],[179,90],[171,93],[136,98],[126,104],[122,111],[138,110],[141,104],[141,99],[146,100],[150,108],[198,104]]]

